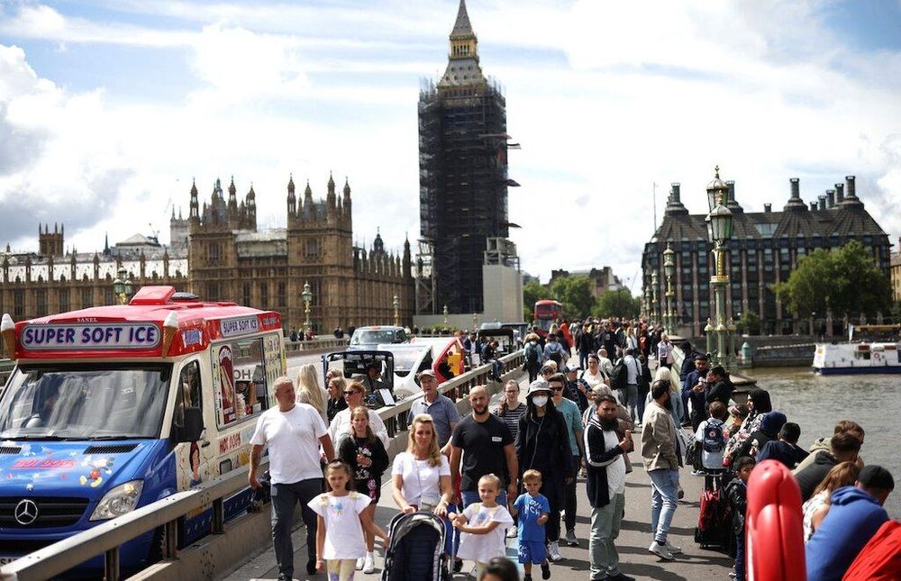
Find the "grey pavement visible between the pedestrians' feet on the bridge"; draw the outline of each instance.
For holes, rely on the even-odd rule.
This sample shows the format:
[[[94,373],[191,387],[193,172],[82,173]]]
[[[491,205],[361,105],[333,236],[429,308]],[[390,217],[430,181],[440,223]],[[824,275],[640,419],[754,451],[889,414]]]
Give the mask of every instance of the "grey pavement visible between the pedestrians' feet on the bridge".
[[[524,383],[524,380],[523,380]],[[523,394],[525,390],[523,389]],[[638,440],[640,434],[635,434]],[[678,555],[675,561],[662,561],[656,555],[648,551],[651,545],[651,479],[642,468],[642,457],[638,452],[630,455],[633,472],[626,476],[626,506],[620,536],[616,540],[619,550],[621,568],[623,573],[636,579],[660,579],[661,581],[676,581],[678,579],[722,579],[729,580],[728,574],[732,571],[733,559],[714,550],[700,549],[694,540],[694,531],[697,524],[699,510],[698,499],[704,486],[703,477],[691,476],[691,470],[683,469],[680,473],[685,497],[679,502],[678,509],[669,529],[669,542],[681,547],[683,554]],[[387,530],[387,524],[396,515],[397,509],[391,500],[390,479],[382,486],[381,500],[376,509],[376,521],[383,529]],[[578,479],[578,515],[576,517],[576,537],[579,541],[577,547],[561,547],[560,552],[564,559],[556,564],[551,564],[551,579],[588,579],[588,533],[590,529],[591,506],[587,502],[585,479]],[[268,510],[268,509],[267,509]],[[561,527],[562,528],[562,527]],[[563,532],[563,531],[561,531]],[[298,522],[293,533],[295,547],[295,576],[297,579],[310,579],[321,581],[326,578],[324,574],[314,576],[305,575],[306,566],[306,540],[303,522]],[[384,550],[381,549],[381,541],[376,541],[378,557],[376,558],[376,572],[364,575],[358,571],[354,579],[377,580],[381,578],[381,565]],[[516,559],[516,540],[509,539],[507,556]],[[456,580],[474,578],[472,564],[467,561],[463,572],[453,576]],[[535,575],[537,573],[537,575]],[[537,568],[533,571],[533,577],[540,578],[541,571]],[[259,552],[241,567],[232,571],[227,576],[221,577],[227,581],[246,581],[248,579],[277,579],[278,567],[276,566],[275,553],[271,544],[261,547]]]

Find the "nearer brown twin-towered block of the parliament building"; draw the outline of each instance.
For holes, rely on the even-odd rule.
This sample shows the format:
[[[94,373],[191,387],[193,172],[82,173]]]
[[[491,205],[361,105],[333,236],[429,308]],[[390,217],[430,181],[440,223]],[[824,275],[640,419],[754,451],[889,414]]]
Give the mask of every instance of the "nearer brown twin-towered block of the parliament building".
[[[191,188],[187,218],[189,287],[211,300],[232,300],[282,314],[287,329],[305,321],[305,283],[313,292],[310,319],[315,332],[341,325],[392,324],[394,296],[402,324],[412,322],[414,284],[410,245],[403,257],[385,250],[381,235],[369,250],[353,244],[350,185],[341,195],[329,177],[324,200],[314,201],[307,183],[303,198],[287,184],[286,227],[258,231],[253,188],[241,204],[234,183],[228,198],[219,182],[209,203],[200,205]]]

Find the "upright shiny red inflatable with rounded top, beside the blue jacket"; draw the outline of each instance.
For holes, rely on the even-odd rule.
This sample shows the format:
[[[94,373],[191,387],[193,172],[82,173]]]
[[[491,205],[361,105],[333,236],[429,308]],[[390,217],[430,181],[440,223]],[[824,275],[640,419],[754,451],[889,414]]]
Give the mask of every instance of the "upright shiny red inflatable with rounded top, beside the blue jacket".
[[[806,581],[801,490],[781,462],[751,472],[744,539],[750,581]]]

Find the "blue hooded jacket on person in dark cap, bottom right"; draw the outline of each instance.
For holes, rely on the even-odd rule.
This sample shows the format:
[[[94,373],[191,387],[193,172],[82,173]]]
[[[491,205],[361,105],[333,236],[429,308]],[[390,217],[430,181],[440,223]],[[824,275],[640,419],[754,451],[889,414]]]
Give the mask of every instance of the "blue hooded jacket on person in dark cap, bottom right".
[[[835,490],[829,513],[807,541],[807,581],[840,581],[860,549],[887,520],[886,509],[860,488]]]

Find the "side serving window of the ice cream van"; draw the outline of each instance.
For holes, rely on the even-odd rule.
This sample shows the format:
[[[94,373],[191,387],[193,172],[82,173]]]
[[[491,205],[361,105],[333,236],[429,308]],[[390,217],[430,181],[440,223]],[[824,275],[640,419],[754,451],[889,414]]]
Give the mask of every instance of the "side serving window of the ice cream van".
[[[213,347],[213,393],[219,427],[251,420],[268,407],[262,338]]]

